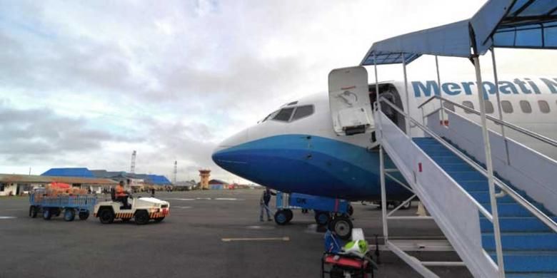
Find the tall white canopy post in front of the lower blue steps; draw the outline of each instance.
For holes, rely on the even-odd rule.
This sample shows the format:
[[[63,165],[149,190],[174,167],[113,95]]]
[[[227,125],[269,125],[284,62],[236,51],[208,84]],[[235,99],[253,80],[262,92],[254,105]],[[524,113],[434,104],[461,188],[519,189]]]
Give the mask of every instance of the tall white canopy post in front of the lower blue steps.
[[[503,264],[503,247],[501,246],[501,231],[499,230],[499,217],[497,210],[497,200],[495,197],[495,184],[493,178],[493,162],[491,160],[491,145],[489,143],[489,133],[486,123],[486,103],[483,99],[483,83],[481,81],[480,59],[473,56],[474,69],[476,70],[476,86],[478,87],[478,101],[480,103],[481,131],[483,135],[483,148],[486,153],[486,170],[488,174],[489,199],[491,201],[491,215],[493,216],[493,235],[495,236],[495,246],[497,252],[497,266],[499,277],[505,277],[505,267]]]

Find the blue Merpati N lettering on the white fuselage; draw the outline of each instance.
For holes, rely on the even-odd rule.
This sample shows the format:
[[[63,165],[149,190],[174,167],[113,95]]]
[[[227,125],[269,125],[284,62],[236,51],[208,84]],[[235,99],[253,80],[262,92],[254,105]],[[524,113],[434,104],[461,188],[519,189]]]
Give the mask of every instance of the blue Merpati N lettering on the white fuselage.
[[[557,78],[514,78],[512,81],[499,81],[499,92],[505,95],[511,94],[541,94],[542,91],[557,93]],[[412,81],[414,96],[416,98],[430,97],[435,94],[439,96],[439,86],[436,81]],[[443,96],[459,96],[461,94],[472,95],[476,93],[476,82],[447,82],[441,84]],[[495,83],[483,81],[483,98],[495,95]]]

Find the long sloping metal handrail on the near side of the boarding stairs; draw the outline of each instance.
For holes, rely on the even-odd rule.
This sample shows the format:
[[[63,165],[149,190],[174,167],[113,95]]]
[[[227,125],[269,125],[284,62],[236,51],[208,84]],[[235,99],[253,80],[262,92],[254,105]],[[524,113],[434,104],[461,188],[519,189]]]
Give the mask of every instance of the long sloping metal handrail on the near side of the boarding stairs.
[[[431,98],[430,98],[431,100]],[[464,160],[466,163],[468,163],[468,165],[471,165],[474,169],[478,170],[479,173],[481,173],[482,175],[484,175],[485,177],[488,177],[488,173],[487,170],[484,169],[483,167],[481,167],[481,165],[478,165],[478,163],[476,163],[475,161],[473,161],[471,158],[468,158],[468,156],[464,155],[460,150],[458,150],[457,148],[455,148],[453,145],[447,143],[445,140],[443,140],[443,138],[441,138],[441,136],[437,135],[436,133],[433,132],[433,130],[430,130],[428,127],[426,127],[425,125],[422,125],[421,123],[419,123],[417,120],[415,120],[414,118],[412,118],[410,115],[408,115],[408,113],[405,113],[403,110],[401,110],[401,108],[398,108],[396,105],[394,105],[393,103],[391,103],[391,101],[388,101],[386,98],[380,98],[380,101],[382,101],[383,103],[388,104],[389,106],[391,106],[391,108],[393,108],[394,110],[396,110],[396,112],[400,113],[401,115],[403,115],[405,118],[408,118],[408,120],[410,120],[411,122],[413,122],[416,126],[418,126],[418,128],[420,128],[421,130],[425,131],[426,133],[428,133],[428,135],[430,135],[432,138],[434,138],[435,140],[437,140],[439,143],[441,143],[441,145],[445,146],[446,148],[448,148],[448,150],[451,150],[451,152],[453,152],[455,155],[458,156],[458,158],[461,158],[462,160]],[[422,103],[424,104],[424,103]],[[545,213],[543,213],[541,210],[539,210],[536,206],[532,205],[531,202],[528,202],[528,200],[526,200],[524,197],[522,197],[522,195],[518,194],[518,192],[516,192],[515,190],[513,190],[513,188],[509,187],[505,182],[499,180],[497,177],[493,177],[493,182],[495,185],[497,185],[501,190],[503,190],[503,192],[506,192],[506,194],[510,195],[513,200],[516,200],[516,202],[518,202],[518,204],[522,205],[524,208],[526,208],[526,210],[528,210],[528,212],[531,212],[535,217],[537,217],[539,220],[541,220],[541,222],[543,222],[543,224],[545,224],[546,226],[548,226],[551,230],[553,230],[553,232],[557,232],[557,223],[554,222],[551,217],[548,217]],[[460,187],[462,189],[462,187],[460,185],[458,185],[458,187]],[[463,190],[463,189],[462,189]],[[466,190],[463,190],[464,192],[466,192]],[[468,193],[468,192],[466,192]],[[473,203],[479,207],[481,207],[481,209],[485,210],[485,208],[479,204],[479,202],[476,201],[476,199],[474,199],[471,195],[466,194],[467,197],[471,198],[471,200],[473,201]],[[478,207],[478,208],[479,208]],[[483,210],[480,209],[480,212],[482,212],[482,214],[484,216],[487,217],[487,215],[483,212]],[[487,210],[486,210],[487,212]],[[491,213],[487,212],[488,215],[491,216]],[[491,222],[493,222],[493,217],[487,217]]]

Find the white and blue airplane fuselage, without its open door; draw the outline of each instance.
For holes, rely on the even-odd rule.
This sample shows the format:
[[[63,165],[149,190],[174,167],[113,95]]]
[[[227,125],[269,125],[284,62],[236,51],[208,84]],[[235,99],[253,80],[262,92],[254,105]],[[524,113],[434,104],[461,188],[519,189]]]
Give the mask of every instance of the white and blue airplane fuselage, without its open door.
[[[441,96],[455,103],[473,105],[479,110],[478,93],[472,80],[443,83]],[[557,138],[557,78],[500,80],[503,120],[548,138]],[[438,100],[433,100],[422,109],[417,108],[438,93],[435,81],[409,81],[408,102],[403,82],[382,84],[386,83],[390,84],[391,93],[398,95],[397,105],[418,121],[440,106]],[[493,83],[484,83],[484,88],[486,98],[491,102],[486,105],[488,115],[499,118]],[[368,150],[373,146],[371,135],[337,135],[333,130],[327,93],[307,96],[289,104],[279,110],[301,110],[302,106],[311,105],[313,113],[296,119],[294,112],[289,120],[280,117],[275,120],[273,117],[276,118],[277,113],[271,113],[266,120],[224,140],[213,155],[214,161],[231,173],[285,192],[353,200],[376,199],[379,194],[378,155]],[[479,120],[477,115],[464,113],[461,108],[455,111],[471,120]],[[490,128],[501,131],[498,125],[490,125]],[[411,133],[423,136],[418,128],[411,128]],[[517,135],[512,130],[506,130],[506,135],[550,158],[557,158],[557,150],[551,145]],[[393,189],[391,195],[397,194],[407,195],[407,192]]]

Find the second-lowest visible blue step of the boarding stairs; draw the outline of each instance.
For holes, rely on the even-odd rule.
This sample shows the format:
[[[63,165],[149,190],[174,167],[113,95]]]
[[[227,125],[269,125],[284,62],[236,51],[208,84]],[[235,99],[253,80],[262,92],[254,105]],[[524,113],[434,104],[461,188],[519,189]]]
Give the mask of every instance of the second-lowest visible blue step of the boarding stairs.
[[[510,232],[501,233],[503,252],[557,251],[557,234],[553,232]],[[495,251],[493,233],[481,235],[481,244],[486,251]]]

